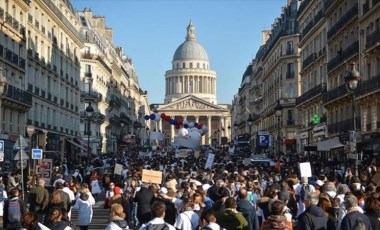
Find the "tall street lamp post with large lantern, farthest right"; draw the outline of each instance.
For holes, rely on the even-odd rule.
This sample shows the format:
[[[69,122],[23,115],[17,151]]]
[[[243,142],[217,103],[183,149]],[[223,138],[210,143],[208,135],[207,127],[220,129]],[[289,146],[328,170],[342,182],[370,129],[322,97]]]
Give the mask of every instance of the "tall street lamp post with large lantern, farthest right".
[[[360,73],[356,70],[356,63],[351,63],[351,69],[346,73],[346,76],[344,77],[344,82],[346,83],[347,91],[349,91],[352,94],[352,137],[350,137],[350,153],[355,154],[356,153],[356,117],[355,117],[355,90],[358,87],[358,83],[360,81]],[[346,154],[344,154],[346,156]],[[355,162],[355,175],[358,175],[358,168],[357,168],[357,158]],[[347,159],[344,161],[345,167],[344,170],[347,169]]]

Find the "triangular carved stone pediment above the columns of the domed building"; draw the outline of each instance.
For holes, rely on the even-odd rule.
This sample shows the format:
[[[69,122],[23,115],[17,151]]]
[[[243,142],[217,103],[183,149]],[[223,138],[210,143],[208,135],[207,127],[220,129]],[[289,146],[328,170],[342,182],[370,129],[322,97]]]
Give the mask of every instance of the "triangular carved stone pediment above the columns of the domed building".
[[[218,111],[227,111],[225,108],[218,105],[214,105],[208,101],[205,101],[194,95],[188,95],[181,99],[178,99],[174,102],[171,102],[166,105],[162,105],[159,108],[162,110],[218,110]]]

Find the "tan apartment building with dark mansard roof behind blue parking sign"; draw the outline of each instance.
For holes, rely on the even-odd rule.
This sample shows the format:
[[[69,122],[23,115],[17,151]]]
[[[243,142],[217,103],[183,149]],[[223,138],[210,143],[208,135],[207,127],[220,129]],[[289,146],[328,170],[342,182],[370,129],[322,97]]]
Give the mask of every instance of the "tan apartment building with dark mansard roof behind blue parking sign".
[[[290,1],[275,19],[270,37],[256,55],[257,65],[253,88],[261,94],[253,102],[257,132],[271,137],[270,151],[288,151],[296,148],[298,130],[295,109],[299,94],[300,69],[297,10],[299,1]],[[278,112],[276,113],[276,110]]]

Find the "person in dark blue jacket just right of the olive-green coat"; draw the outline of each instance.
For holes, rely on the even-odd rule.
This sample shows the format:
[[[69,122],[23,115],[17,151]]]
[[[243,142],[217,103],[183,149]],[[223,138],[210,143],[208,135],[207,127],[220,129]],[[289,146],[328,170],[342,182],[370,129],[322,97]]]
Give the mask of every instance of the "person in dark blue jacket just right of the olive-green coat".
[[[243,213],[243,216],[248,222],[249,230],[259,230],[259,219],[257,217],[256,210],[253,207],[252,203],[248,201],[247,197],[247,189],[241,188],[238,192],[239,200],[237,202],[236,210]]]

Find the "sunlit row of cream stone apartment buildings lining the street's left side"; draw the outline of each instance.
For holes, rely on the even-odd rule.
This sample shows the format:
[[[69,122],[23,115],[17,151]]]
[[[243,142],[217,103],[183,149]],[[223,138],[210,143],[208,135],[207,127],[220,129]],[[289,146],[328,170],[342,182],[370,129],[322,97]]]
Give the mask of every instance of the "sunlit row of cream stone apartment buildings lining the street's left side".
[[[147,92],[104,17],[77,14],[70,1],[6,0],[0,22],[0,137],[9,157],[27,128],[32,146],[60,157],[117,151],[121,135],[140,136]]]

